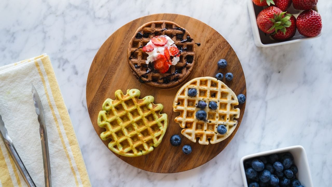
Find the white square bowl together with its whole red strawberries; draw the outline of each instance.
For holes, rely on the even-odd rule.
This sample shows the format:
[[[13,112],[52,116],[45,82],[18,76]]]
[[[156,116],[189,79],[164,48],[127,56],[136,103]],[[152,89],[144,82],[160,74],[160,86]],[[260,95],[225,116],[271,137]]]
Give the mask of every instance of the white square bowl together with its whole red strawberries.
[[[321,36],[318,0],[248,0],[257,47],[271,47]]]

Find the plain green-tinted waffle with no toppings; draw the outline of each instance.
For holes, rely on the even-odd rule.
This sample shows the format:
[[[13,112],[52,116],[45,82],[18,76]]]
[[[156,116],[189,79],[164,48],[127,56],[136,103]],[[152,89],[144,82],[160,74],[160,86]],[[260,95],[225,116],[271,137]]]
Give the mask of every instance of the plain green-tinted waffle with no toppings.
[[[98,125],[106,128],[100,134],[111,139],[108,147],[127,157],[148,154],[157,147],[168,125],[167,114],[160,114],[162,104],[153,104],[153,96],[138,99],[140,91],[131,89],[123,95],[115,92],[116,100],[106,99],[98,115]]]

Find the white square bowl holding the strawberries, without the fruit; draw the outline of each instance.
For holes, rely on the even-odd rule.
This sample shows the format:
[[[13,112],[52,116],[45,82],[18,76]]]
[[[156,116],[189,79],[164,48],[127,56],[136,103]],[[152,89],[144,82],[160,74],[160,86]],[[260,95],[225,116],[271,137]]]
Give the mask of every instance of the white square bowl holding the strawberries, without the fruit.
[[[295,43],[295,42],[301,42],[301,41],[305,41],[305,40],[318,38],[322,35],[322,33],[320,33],[318,36],[315,36],[315,37],[305,37],[305,36],[301,35],[298,31],[296,31],[294,37],[288,39],[287,41],[282,41],[282,42],[276,41],[271,36],[265,34],[263,31],[259,30],[258,26],[257,26],[256,17],[266,7],[256,6],[252,2],[252,0],[247,0],[247,2],[248,2],[251,29],[252,29],[252,33],[254,35],[255,45],[257,47],[271,47],[271,46],[278,46],[278,45],[283,45],[283,44],[291,44],[291,43]],[[318,12],[317,6],[315,6],[313,8],[313,10]],[[290,12],[291,14],[293,14],[295,16],[295,18],[302,12],[302,10],[295,10],[293,8],[293,5],[291,5],[287,11]]]

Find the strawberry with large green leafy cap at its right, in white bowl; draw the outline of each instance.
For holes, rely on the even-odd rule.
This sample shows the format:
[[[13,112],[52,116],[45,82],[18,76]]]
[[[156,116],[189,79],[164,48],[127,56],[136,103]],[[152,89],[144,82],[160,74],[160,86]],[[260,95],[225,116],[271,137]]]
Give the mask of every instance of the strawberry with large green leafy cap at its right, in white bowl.
[[[257,16],[257,25],[264,33],[271,34],[278,30],[285,31],[290,26],[290,15],[275,6],[263,9]]]

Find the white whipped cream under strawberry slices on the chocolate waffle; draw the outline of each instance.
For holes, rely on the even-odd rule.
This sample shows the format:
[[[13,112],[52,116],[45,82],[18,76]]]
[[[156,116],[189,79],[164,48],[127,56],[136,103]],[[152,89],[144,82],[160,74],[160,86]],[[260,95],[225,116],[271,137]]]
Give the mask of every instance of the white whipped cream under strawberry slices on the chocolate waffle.
[[[146,64],[149,64],[150,62],[157,60],[157,57],[159,54],[162,54],[165,56],[165,54],[164,54],[165,47],[168,47],[168,49],[172,46],[176,47],[175,42],[170,37],[168,37],[166,35],[161,35],[161,36],[163,36],[167,39],[167,43],[164,46],[156,46],[152,43],[151,40],[146,44],[146,45],[153,45],[153,51],[145,52],[149,55],[145,61]],[[173,59],[171,59],[171,60],[172,60],[172,65],[176,65],[180,61],[180,57],[173,57]]]

